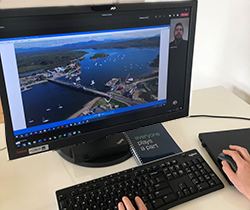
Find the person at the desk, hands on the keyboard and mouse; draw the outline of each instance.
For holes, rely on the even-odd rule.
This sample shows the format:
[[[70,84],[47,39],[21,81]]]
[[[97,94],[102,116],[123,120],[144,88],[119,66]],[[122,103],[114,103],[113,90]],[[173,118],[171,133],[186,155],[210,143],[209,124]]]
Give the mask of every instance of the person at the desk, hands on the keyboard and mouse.
[[[250,200],[250,155],[248,151],[240,146],[230,145],[230,150],[223,150],[223,153],[231,156],[237,164],[237,171],[233,172],[226,161],[222,161],[222,169],[234,186]],[[135,203],[139,210],[147,210],[143,201],[137,196]],[[131,201],[125,196],[118,204],[119,210],[135,210]]]

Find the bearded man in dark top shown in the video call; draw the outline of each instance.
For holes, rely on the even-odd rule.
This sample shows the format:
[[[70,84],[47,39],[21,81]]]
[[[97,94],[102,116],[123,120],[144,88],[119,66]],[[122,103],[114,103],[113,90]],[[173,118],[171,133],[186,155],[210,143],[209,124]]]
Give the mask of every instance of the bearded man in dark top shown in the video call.
[[[183,37],[184,34],[184,27],[181,22],[177,23],[174,28],[174,40],[170,42],[170,49],[173,48],[184,48],[187,47],[187,41],[184,40]]]

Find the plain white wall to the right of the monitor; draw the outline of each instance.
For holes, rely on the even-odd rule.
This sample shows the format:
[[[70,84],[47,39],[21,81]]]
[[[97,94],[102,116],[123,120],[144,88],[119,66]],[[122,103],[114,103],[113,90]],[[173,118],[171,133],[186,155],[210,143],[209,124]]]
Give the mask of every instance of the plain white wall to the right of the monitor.
[[[222,85],[250,103],[249,20],[250,0],[198,1],[192,89]]]

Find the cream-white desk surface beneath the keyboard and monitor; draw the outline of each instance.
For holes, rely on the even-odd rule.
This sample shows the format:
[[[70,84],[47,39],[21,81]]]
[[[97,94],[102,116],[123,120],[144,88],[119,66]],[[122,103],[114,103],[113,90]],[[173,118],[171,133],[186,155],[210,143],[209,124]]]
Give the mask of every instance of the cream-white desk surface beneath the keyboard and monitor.
[[[191,105],[190,115],[211,114],[250,118],[250,106],[223,87],[194,91]],[[183,151],[198,149],[225,185],[222,190],[176,206],[173,209],[250,209],[250,201],[226,182],[198,139],[200,132],[249,128],[249,121],[182,118],[163,124]],[[3,139],[5,139],[4,124],[1,124],[0,145],[2,146],[4,146]],[[0,209],[56,210],[56,190],[125,170],[135,165],[134,159],[130,158],[111,167],[85,168],[68,163],[57,152],[47,152],[15,161],[7,161],[7,150],[4,150],[0,152]]]

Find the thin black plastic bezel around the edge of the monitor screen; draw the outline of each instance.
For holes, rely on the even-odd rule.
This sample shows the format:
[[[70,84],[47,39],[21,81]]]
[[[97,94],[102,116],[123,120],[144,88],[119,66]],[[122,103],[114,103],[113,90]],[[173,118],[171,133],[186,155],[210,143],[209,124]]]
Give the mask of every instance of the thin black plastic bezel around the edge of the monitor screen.
[[[129,122],[123,122],[119,125],[112,125],[106,128],[100,128],[98,130],[93,130],[88,133],[84,133],[77,136],[72,136],[65,139],[55,140],[49,142],[50,150],[57,150],[63,147],[76,145],[82,142],[88,142],[103,138],[108,135],[116,134],[119,132],[124,132],[126,130],[135,129],[141,126],[146,126],[154,123],[160,123],[164,121],[169,121],[181,117],[188,116],[189,113],[189,101],[190,101],[190,86],[191,86],[191,70],[192,70],[192,57],[193,57],[193,46],[194,46],[194,34],[195,34],[195,23],[196,23],[196,12],[197,12],[197,1],[176,1],[176,2],[159,2],[159,3],[135,3],[135,4],[118,4],[118,5],[105,5],[104,6],[70,6],[70,7],[50,7],[50,8],[24,8],[24,9],[2,9],[0,10],[0,19],[6,17],[24,17],[24,16],[40,16],[40,15],[51,15],[51,14],[77,14],[77,13],[95,13],[95,12],[105,12],[110,7],[116,7],[115,12],[119,11],[130,11],[134,10],[146,10],[146,9],[157,9],[157,8],[175,8],[175,7],[190,7],[190,27],[189,27],[189,47],[187,52],[187,65],[186,65],[186,77],[185,77],[185,93],[184,93],[184,108],[182,110],[163,113],[157,116],[150,116],[147,118],[142,118],[132,120]],[[97,11],[94,8],[98,8]],[[102,11],[101,8],[104,8]],[[108,10],[109,11],[109,10]],[[2,70],[2,63],[0,60],[0,95],[2,98],[2,106],[5,120],[5,131],[6,131],[6,142],[9,152],[9,159],[16,159],[25,156],[30,156],[33,154],[20,153],[16,154],[16,148],[14,145],[15,136],[13,134],[13,127],[11,122],[9,102],[6,92],[6,85],[4,81],[4,75]],[[98,123],[97,123],[98,124]],[[100,124],[100,122],[99,122]],[[101,125],[102,126],[102,125]],[[58,131],[54,131],[55,135]],[[38,154],[38,153],[37,153]]]

